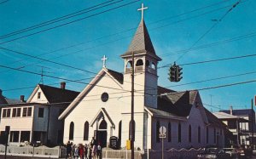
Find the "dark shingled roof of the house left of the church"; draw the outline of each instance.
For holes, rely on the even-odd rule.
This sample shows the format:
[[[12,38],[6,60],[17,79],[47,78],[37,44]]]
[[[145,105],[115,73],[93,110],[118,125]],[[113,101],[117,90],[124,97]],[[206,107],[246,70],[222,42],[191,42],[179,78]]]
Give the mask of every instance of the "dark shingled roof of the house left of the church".
[[[79,95],[79,92],[62,88],[54,88],[43,84],[39,84],[39,87],[42,89],[46,99],[48,99],[49,104],[71,102]]]

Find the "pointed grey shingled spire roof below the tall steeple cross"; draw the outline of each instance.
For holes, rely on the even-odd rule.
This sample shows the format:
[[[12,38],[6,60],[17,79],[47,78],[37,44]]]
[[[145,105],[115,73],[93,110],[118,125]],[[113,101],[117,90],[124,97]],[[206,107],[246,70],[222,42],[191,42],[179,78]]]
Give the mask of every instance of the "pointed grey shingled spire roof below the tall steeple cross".
[[[134,35],[131,44],[128,48],[128,51],[125,54],[122,54],[121,57],[131,56],[132,53],[136,54],[148,54],[157,60],[161,60],[155,54],[154,46],[151,42],[151,39],[148,34],[148,29],[145,25],[144,20],[141,20],[139,26],[137,27],[136,34]]]

